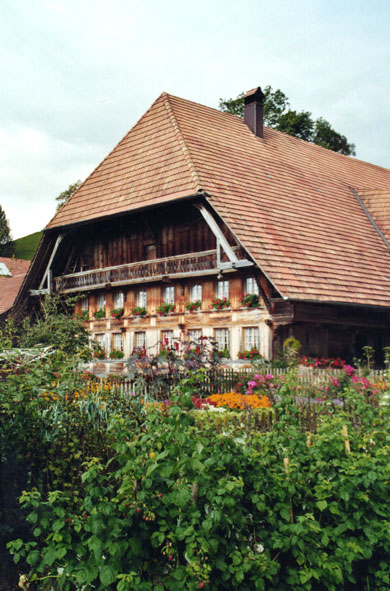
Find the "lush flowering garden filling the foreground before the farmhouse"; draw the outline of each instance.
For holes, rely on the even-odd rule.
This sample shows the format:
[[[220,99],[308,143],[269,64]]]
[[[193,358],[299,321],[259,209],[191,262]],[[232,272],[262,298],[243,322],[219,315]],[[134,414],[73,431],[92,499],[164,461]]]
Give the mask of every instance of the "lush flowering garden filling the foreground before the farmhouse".
[[[40,347],[11,332],[0,588],[388,591],[388,372],[327,360],[308,381],[318,365],[287,355],[204,393],[205,344],[135,354],[125,387],[83,371],[82,332]]]

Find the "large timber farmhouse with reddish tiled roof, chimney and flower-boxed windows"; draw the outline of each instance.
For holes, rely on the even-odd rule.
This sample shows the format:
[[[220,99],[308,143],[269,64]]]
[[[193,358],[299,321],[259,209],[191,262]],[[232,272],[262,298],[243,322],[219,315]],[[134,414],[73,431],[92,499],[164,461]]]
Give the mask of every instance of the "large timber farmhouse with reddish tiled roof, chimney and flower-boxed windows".
[[[390,170],[163,93],[47,225],[19,296],[80,293],[107,351],[390,345]]]

